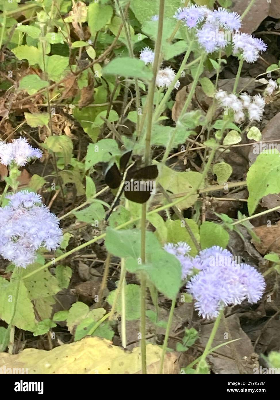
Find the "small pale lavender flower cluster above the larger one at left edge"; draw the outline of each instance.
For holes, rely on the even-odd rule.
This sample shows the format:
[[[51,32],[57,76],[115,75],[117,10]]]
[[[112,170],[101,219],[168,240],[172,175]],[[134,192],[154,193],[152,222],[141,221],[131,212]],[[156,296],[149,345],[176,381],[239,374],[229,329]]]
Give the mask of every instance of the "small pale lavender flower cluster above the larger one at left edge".
[[[14,139],[12,143],[0,142],[1,164],[24,166],[31,159],[41,157],[42,151],[30,146],[26,138]]]

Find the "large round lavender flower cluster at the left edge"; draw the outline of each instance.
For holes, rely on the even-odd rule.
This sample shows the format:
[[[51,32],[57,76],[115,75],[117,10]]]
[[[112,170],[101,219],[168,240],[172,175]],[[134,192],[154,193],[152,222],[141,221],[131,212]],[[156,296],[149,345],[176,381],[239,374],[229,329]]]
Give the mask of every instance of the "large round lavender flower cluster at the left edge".
[[[36,260],[39,248],[55,250],[59,246],[62,230],[38,194],[23,190],[6,198],[10,203],[0,208],[0,255],[26,268]]]

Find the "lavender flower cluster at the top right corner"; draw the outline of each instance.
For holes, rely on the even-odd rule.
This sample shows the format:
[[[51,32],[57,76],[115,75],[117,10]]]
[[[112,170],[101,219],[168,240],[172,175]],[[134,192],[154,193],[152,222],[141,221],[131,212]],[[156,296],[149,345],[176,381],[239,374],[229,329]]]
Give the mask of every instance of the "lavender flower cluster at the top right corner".
[[[220,7],[209,10],[206,6],[192,4],[179,8],[174,18],[185,22],[193,30],[200,46],[207,53],[223,50],[228,44],[233,46],[233,54],[247,62],[255,62],[267,45],[258,38],[239,33],[241,17]]]

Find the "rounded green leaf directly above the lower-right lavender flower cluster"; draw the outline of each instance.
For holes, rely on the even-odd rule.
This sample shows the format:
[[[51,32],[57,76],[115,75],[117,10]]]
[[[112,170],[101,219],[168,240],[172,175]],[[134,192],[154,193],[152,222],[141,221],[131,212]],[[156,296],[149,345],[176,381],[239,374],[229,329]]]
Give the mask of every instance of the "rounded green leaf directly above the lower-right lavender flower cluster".
[[[212,246],[226,248],[229,241],[229,234],[222,225],[205,221],[201,224],[200,230],[201,248],[206,249]]]

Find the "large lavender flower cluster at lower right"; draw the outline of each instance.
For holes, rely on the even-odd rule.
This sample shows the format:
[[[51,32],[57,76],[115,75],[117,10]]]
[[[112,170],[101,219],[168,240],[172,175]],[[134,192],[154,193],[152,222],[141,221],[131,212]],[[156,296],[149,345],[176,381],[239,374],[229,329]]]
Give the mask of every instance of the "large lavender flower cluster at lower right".
[[[256,303],[262,297],[263,276],[248,264],[237,264],[228,250],[212,246],[193,258],[186,243],[169,243],[164,248],[181,262],[183,279],[199,270],[186,287],[203,318],[216,318],[224,306],[240,304],[246,299]]]

